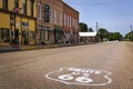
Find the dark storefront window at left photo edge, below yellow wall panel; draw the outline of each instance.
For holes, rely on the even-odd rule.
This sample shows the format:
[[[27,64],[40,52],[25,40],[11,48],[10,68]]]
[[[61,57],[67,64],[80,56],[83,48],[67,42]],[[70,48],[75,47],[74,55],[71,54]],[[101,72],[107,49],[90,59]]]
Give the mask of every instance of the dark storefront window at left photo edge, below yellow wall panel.
[[[1,42],[10,42],[10,30],[9,29],[0,29],[1,32]]]

